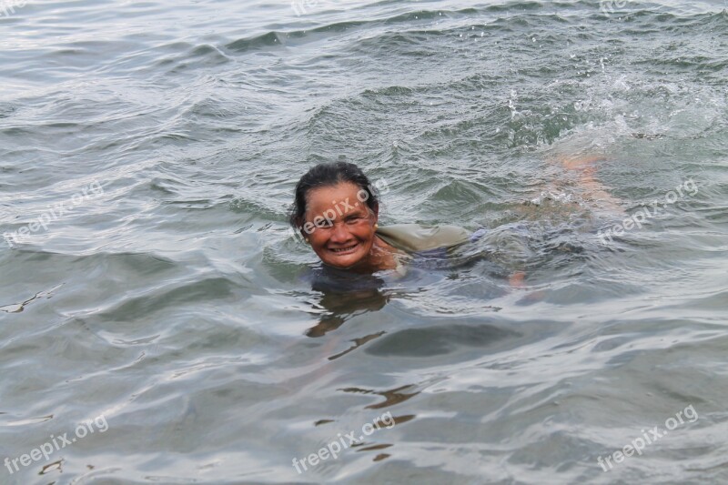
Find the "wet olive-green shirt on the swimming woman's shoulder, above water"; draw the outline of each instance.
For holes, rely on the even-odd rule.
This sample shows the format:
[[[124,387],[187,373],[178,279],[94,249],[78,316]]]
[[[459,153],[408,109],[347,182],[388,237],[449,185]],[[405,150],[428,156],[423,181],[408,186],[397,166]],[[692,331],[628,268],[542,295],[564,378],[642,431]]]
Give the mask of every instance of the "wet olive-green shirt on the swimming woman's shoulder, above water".
[[[450,225],[394,224],[379,227],[377,236],[395,248],[411,252],[451,248],[470,241],[470,231]]]

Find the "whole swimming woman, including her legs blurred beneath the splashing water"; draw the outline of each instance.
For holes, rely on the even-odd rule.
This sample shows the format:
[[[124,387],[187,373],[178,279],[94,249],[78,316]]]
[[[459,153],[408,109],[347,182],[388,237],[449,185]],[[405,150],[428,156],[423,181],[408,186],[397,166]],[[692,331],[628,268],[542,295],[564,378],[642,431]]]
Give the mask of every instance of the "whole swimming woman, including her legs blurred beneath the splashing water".
[[[613,217],[623,214],[621,201],[595,177],[594,163],[606,161],[605,157],[554,155],[548,161],[561,166],[568,176],[569,187],[580,200],[573,204],[590,206],[592,215]],[[559,199],[563,196],[559,195],[562,185],[551,183],[547,186],[548,191],[541,195],[546,194],[546,199]],[[475,241],[491,230],[481,228],[470,234],[462,227],[448,225],[379,227],[378,188],[382,188],[379,183],[372,186],[359,167],[346,162],[319,164],[298,181],[289,222],[319,256],[325,268],[359,273],[397,269],[404,273],[406,261],[447,259],[450,248]],[[528,216],[532,207],[533,203],[527,203],[521,208]],[[547,215],[541,212],[541,216]],[[539,213],[532,216],[538,217]],[[498,237],[498,232],[496,230],[493,236]],[[519,244],[523,246],[523,243]],[[521,268],[511,268],[511,271],[511,285],[522,286],[524,273]]]

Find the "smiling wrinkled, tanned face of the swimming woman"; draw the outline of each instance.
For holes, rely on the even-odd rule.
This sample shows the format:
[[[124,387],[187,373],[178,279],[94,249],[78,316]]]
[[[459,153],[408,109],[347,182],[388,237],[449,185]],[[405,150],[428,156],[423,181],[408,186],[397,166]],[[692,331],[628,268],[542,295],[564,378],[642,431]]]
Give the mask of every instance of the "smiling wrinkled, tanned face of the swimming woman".
[[[354,268],[367,264],[374,244],[376,212],[359,201],[364,192],[350,183],[308,191],[303,236],[325,264]]]

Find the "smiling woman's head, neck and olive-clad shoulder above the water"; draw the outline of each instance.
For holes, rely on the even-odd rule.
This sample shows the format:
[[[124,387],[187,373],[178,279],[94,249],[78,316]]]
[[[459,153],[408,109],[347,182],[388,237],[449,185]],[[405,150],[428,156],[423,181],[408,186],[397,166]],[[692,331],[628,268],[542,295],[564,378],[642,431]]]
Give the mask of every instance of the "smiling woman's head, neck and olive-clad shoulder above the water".
[[[373,273],[399,267],[401,257],[451,248],[470,239],[455,226],[379,227],[376,187],[354,164],[319,164],[296,186],[289,222],[330,267]]]

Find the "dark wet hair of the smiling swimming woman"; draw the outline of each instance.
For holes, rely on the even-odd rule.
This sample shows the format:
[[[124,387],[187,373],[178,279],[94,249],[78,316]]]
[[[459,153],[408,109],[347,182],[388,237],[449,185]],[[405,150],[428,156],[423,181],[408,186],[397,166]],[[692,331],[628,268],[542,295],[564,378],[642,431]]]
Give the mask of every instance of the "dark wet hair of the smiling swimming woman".
[[[332,187],[341,183],[354,184],[367,192],[367,206],[375,210],[379,205],[377,194],[371,189],[369,178],[364,175],[361,168],[349,162],[331,162],[311,167],[296,184],[296,196],[293,206],[288,214],[288,222],[296,228],[306,214],[306,197],[311,189],[319,187]],[[364,202],[362,200],[362,202]]]

